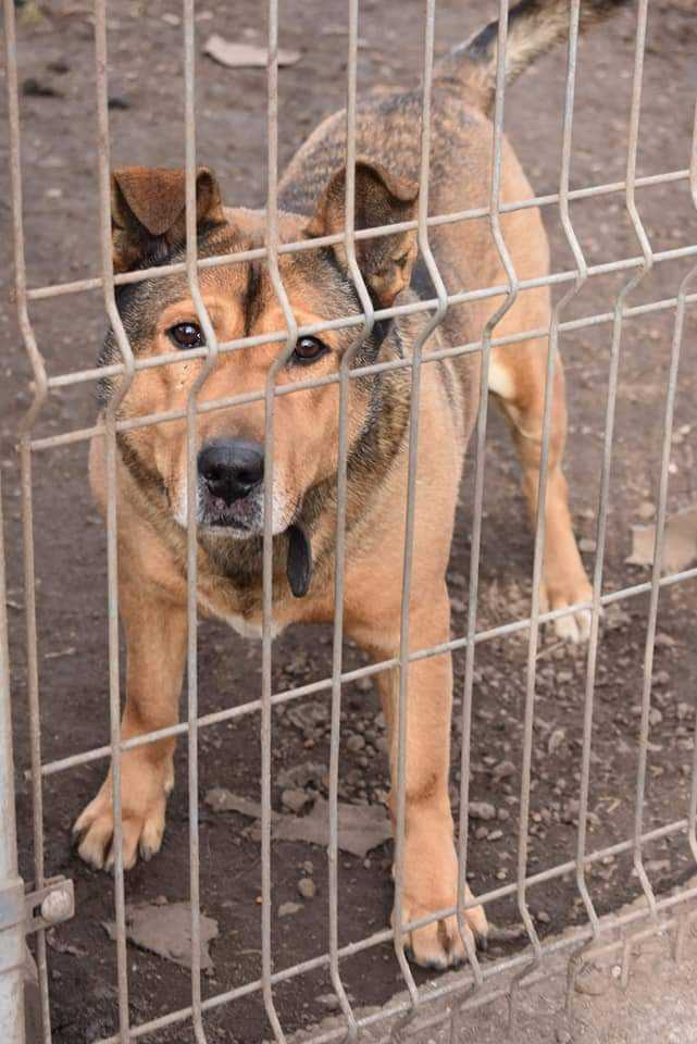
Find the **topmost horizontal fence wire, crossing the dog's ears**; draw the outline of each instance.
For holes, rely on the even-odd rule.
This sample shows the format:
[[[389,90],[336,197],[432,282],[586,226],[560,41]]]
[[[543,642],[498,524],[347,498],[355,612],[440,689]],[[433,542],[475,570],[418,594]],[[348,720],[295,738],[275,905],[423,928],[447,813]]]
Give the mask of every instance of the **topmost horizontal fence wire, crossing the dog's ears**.
[[[646,188],[651,185],[664,185],[673,182],[684,182],[689,178],[688,170],[668,171],[664,174],[649,174],[646,177],[636,179],[637,188]],[[624,182],[609,182],[605,185],[593,185],[588,188],[576,188],[569,192],[570,200],[589,199],[595,196],[610,196],[614,192],[625,190]],[[547,196],[534,196],[530,199],[522,199],[515,202],[501,203],[500,212],[502,214],[514,213],[518,210],[528,210],[532,207],[549,207],[559,202],[559,192],[550,192]],[[476,207],[471,210],[453,211],[449,214],[438,214],[427,219],[430,228],[438,225],[456,224],[461,221],[472,221],[477,217],[488,217],[488,207]],[[357,239],[375,239],[381,236],[391,235],[396,232],[406,232],[414,229],[418,226],[416,221],[406,221],[395,225],[378,225],[375,228],[361,228],[356,231]],[[333,246],[341,243],[344,233],[337,233],[332,236],[320,236],[316,239],[301,239],[296,243],[284,243],[278,245],[278,253],[300,253],[302,250],[319,250],[322,247]],[[244,261],[261,261],[266,257],[266,248],[258,247],[253,250],[241,250],[237,253],[224,253],[213,258],[200,258],[199,269],[219,268],[223,264],[239,264]],[[114,277],[116,286],[123,286],[127,283],[141,283],[144,279],[158,279],[166,275],[182,275],[186,272],[184,261],[177,264],[160,265],[152,269],[139,269],[137,272],[122,272]],[[33,301],[43,300],[50,297],[62,297],[66,294],[79,294],[85,290],[97,290],[101,286],[101,279],[98,276],[75,279],[72,283],[54,283],[49,286],[37,286],[27,290],[27,298]]]

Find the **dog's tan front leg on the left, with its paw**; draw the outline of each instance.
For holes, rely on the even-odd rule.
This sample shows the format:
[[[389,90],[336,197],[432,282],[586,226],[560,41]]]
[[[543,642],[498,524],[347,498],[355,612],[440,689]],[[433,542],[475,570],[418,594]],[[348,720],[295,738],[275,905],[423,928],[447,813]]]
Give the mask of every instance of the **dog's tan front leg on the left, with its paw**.
[[[126,706],[122,738],[175,724],[186,654],[186,610],[152,589],[120,584],[120,608],[127,648]],[[121,761],[123,862],[130,869],[140,853],[159,852],[167,794],[174,785],[173,738],[124,751]],[[111,770],[73,828],[82,858],[111,869],[114,820]]]

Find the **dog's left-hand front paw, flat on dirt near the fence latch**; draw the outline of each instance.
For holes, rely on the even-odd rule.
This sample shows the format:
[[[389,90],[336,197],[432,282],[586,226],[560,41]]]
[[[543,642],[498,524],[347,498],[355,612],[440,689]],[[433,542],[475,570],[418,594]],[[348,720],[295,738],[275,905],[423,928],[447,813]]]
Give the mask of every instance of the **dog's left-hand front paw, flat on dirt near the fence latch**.
[[[174,785],[172,759],[153,765],[141,756],[126,755],[122,762],[123,865],[135,866],[138,854],[150,859],[160,850],[164,834],[167,794]],[[114,817],[111,772],[73,826],[77,854],[96,870],[114,865]]]

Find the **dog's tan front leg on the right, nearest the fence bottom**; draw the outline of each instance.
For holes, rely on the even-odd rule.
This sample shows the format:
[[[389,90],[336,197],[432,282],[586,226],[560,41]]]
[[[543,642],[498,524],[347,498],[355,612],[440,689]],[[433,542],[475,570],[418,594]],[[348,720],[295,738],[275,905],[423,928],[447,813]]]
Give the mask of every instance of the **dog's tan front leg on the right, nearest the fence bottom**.
[[[411,650],[447,642],[449,629],[450,602],[443,584],[435,598],[412,605]],[[388,659],[398,655],[399,636],[394,632],[386,634],[376,646],[373,632],[372,641],[363,644],[374,658]],[[381,672],[376,683],[389,732],[390,812],[396,825],[399,671]],[[457,902],[458,859],[448,794],[451,704],[450,655],[412,662],[407,692],[402,923],[447,909]],[[466,897],[471,898],[469,890]],[[486,935],[486,917],[481,907],[466,910],[465,920],[475,936]],[[447,968],[465,956],[455,916],[409,932],[406,941],[414,959],[425,967]]]

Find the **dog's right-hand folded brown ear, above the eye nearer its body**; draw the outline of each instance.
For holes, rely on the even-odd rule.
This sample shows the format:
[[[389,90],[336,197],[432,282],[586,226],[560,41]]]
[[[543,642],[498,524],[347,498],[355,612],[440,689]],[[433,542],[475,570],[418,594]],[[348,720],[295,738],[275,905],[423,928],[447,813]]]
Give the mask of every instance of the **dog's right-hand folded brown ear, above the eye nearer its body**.
[[[375,228],[412,221],[416,212],[419,185],[390,174],[366,160],[356,162],[356,228]],[[337,171],[325,188],[308,226],[312,238],[344,232],[346,214],[346,170]],[[343,243],[334,247],[347,271]],[[371,296],[381,308],[389,308],[400,290],[409,286],[416,259],[416,233],[397,232],[375,239],[357,239],[356,258]]]

